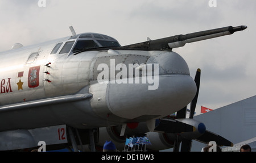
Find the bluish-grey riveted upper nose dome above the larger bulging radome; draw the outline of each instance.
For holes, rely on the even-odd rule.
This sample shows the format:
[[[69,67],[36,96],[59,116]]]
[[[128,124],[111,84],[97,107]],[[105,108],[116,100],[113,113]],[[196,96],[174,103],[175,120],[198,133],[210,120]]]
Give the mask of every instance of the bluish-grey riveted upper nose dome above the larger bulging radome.
[[[184,74],[190,75],[187,62],[175,52],[163,52],[152,56],[148,64],[159,64],[159,75],[161,74]]]

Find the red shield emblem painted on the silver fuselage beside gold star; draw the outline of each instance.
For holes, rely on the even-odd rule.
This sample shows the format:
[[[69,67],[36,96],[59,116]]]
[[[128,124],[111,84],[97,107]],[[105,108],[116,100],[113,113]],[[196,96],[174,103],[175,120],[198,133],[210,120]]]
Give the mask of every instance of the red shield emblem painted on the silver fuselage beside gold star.
[[[39,71],[40,66],[30,68],[28,71],[28,87],[34,88],[39,86]]]

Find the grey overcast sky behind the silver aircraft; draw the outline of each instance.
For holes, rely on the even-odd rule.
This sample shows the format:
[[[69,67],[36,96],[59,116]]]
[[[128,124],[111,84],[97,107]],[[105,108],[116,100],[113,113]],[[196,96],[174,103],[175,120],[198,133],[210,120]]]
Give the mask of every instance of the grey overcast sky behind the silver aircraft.
[[[1,0],[0,51],[14,43],[31,45],[76,33],[97,32],[121,45],[226,26],[247,30],[174,49],[195,77],[201,69],[197,102],[212,109],[256,95],[256,1],[216,0]]]

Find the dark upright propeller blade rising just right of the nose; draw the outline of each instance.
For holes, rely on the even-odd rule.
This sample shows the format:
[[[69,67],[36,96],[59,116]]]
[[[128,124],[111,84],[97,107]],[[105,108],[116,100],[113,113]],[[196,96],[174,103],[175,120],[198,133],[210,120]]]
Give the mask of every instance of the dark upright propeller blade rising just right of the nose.
[[[200,87],[200,77],[201,77],[201,70],[197,69],[196,71],[196,76],[195,76],[195,83],[196,83],[196,95],[193,98],[191,104],[190,104],[190,114],[189,114],[189,118],[192,119],[194,114],[195,114],[195,110],[196,110],[196,103],[197,103],[197,98],[198,98],[198,94],[199,94],[199,87]]]

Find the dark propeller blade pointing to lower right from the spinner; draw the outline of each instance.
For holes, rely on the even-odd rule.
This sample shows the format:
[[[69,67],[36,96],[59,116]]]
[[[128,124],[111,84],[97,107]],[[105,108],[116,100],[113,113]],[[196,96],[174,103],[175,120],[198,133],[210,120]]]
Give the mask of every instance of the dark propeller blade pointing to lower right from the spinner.
[[[200,141],[205,144],[208,144],[210,141],[215,141],[217,143],[217,145],[233,147],[232,142],[230,142],[229,140],[225,139],[224,137],[217,135],[216,133],[213,133],[210,131],[205,131],[205,133],[202,136],[198,137],[195,140]]]

